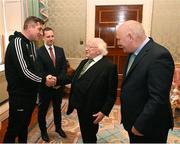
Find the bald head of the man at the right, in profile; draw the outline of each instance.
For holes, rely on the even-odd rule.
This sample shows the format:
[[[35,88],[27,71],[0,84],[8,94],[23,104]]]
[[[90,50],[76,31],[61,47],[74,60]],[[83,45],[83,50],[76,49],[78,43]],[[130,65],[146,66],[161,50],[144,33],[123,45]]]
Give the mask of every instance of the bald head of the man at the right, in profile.
[[[129,20],[117,27],[117,42],[118,46],[124,52],[134,52],[145,40],[146,35],[141,23]]]

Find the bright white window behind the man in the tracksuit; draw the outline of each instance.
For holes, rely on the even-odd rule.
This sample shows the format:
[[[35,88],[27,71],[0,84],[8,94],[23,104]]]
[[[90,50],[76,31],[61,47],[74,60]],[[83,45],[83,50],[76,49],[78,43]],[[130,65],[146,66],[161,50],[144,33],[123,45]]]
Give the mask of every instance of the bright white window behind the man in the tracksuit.
[[[0,0],[0,71],[4,63],[8,37],[14,31],[22,30],[23,0]]]

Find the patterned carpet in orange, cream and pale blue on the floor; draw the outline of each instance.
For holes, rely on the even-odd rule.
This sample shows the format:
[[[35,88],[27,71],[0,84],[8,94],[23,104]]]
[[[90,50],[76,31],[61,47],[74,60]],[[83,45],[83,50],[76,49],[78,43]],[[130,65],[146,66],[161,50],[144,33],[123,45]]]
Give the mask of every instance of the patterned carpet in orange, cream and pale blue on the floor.
[[[48,134],[50,143],[82,143],[81,134],[78,125],[77,113],[73,112],[71,115],[66,115],[67,101],[64,100],[62,104],[62,127],[67,134],[67,138],[61,138],[55,133],[52,108],[49,109],[47,114]],[[119,106],[114,106],[110,116],[100,123],[98,132],[98,143],[128,143],[128,135],[123,129],[120,121]],[[29,143],[44,143],[40,136],[40,130],[36,124],[29,131]],[[168,136],[168,143],[180,143],[180,126],[175,127],[170,131]]]

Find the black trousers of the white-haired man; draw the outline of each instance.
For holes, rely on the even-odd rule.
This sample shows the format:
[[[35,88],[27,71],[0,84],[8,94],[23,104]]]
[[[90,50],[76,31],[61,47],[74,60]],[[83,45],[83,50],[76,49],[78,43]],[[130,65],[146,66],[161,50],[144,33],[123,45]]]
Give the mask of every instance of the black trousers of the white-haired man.
[[[93,124],[95,118],[83,108],[77,109],[77,114],[83,143],[96,143],[99,124]]]

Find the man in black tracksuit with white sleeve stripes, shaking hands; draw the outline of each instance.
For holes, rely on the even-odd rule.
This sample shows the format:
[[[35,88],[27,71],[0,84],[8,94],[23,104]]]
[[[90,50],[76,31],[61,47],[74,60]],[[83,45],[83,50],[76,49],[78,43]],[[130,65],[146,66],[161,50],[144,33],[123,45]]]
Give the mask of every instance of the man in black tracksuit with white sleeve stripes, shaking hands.
[[[23,32],[9,37],[5,55],[5,74],[9,93],[9,122],[4,137],[5,143],[26,143],[28,125],[36,103],[39,83],[54,86],[53,76],[41,78],[37,75],[36,50],[32,41],[41,37],[44,22],[34,16],[24,22]]]

